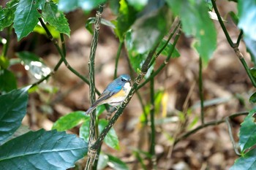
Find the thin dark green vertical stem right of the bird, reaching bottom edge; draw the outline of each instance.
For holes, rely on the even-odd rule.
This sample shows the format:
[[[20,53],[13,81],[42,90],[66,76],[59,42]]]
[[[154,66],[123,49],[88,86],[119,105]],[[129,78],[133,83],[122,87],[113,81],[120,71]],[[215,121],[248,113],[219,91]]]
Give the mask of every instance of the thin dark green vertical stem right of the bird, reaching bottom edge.
[[[154,71],[153,71],[154,72]],[[153,73],[152,72],[152,73]],[[150,80],[150,122],[151,122],[151,142],[150,142],[150,154],[151,162],[153,163],[153,168],[157,169],[157,158],[155,154],[155,128],[154,128],[154,78]]]

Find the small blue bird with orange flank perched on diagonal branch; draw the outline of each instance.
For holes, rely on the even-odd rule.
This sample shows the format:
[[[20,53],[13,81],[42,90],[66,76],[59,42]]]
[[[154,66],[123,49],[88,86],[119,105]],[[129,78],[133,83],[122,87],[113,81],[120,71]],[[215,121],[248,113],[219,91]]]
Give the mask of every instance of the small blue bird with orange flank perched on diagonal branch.
[[[128,74],[121,74],[118,78],[110,82],[107,88],[102,92],[99,98],[91,104],[91,107],[86,111],[86,115],[96,109],[101,104],[110,104],[117,107],[127,97],[131,90],[131,77]]]

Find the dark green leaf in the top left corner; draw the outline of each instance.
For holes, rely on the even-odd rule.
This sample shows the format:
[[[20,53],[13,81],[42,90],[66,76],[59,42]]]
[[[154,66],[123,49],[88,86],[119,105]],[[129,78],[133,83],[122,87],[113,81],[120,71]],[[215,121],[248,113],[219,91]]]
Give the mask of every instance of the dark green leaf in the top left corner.
[[[7,2],[7,7],[2,8],[0,6],[0,31],[5,27],[10,26],[14,20],[14,12],[18,5],[18,0],[12,0]]]

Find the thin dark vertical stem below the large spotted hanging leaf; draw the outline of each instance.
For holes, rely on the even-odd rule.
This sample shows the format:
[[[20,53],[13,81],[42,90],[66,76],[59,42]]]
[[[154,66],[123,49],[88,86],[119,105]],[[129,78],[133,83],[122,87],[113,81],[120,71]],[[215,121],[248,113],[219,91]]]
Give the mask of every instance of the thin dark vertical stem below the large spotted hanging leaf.
[[[198,83],[199,83],[199,94],[200,94],[200,107],[201,107],[201,123],[204,123],[204,112],[203,112],[203,75],[202,75],[202,58],[199,58],[199,78],[198,78]]]

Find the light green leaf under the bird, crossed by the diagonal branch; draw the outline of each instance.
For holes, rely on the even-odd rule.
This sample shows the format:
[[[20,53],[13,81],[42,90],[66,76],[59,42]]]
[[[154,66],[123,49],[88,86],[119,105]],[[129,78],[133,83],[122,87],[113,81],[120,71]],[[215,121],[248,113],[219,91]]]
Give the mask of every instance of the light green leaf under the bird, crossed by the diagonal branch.
[[[105,126],[108,125],[107,120],[99,120],[99,132],[101,133]],[[109,147],[112,147],[116,150],[119,149],[119,141],[118,136],[116,135],[116,131],[113,128],[110,128],[110,131],[105,136],[104,142],[108,144]]]

